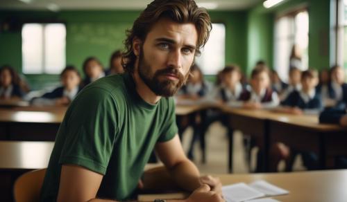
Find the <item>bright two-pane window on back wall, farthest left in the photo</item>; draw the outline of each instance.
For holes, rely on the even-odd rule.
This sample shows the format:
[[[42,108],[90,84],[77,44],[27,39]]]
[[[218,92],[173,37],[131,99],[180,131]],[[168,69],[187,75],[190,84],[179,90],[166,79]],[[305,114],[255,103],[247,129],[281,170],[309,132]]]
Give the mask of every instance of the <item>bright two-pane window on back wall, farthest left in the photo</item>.
[[[24,24],[22,71],[26,74],[59,74],[65,67],[64,24]]]

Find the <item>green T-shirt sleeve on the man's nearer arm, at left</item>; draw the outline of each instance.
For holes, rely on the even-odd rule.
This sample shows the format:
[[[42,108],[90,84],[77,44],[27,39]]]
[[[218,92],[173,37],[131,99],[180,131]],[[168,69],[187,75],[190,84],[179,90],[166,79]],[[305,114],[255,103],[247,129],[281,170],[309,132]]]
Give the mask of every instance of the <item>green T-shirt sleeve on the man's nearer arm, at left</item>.
[[[112,94],[97,87],[87,88],[70,108],[59,163],[105,174],[117,138],[117,106]]]

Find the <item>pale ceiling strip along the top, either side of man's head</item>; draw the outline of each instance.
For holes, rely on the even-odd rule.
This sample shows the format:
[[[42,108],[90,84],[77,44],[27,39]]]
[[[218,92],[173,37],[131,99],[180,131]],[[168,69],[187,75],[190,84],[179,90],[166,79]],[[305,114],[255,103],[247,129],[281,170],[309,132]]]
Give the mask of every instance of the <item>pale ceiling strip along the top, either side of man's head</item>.
[[[243,10],[264,0],[196,0],[216,10]],[[1,10],[143,10],[151,0],[0,0]]]

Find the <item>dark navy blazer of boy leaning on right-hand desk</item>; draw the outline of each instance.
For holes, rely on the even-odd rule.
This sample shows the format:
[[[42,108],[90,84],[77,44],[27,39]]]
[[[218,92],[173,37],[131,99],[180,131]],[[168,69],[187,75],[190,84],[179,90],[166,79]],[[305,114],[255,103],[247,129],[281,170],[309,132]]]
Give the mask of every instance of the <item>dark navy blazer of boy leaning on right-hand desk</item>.
[[[281,104],[289,107],[298,107],[300,109],[321,109],[323,107],[321,95],[319,93],[315,93],[314,97],[311,98],[309,102],[305,102],[303,98],[301,98],[299,91],[291,92],[287,99]]]

